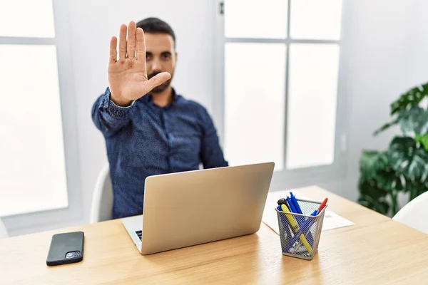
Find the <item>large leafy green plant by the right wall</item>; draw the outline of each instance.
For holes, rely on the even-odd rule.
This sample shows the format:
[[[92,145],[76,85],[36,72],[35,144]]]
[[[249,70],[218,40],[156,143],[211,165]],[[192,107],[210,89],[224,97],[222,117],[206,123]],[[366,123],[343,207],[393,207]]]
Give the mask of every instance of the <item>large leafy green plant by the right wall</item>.
[[[360,159],[358,202],[375,211],[394,215],[398,212],[398,194],[409,201],[428,190],[428,83],[407,90],[394,101],[392,121],[374,132],[382,133],[399,125],[396,136],[384,151],[363,150]]]

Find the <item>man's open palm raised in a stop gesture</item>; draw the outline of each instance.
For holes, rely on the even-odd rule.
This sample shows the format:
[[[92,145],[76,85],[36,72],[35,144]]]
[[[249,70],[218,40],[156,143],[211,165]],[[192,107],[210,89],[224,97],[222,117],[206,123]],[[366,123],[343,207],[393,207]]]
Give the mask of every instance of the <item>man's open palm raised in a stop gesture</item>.
[[[126,33],[128,31],[128,40]],[[110,41],[110,61],[108,62],[108,83],[111,99],[118,105],[129,105],[170,79],[170,73],[163,72],[150,80],[146,71],[146,42],[144,32],[136,28],[131,21],[128,27],[121,25],[118,39],[113,36]]]

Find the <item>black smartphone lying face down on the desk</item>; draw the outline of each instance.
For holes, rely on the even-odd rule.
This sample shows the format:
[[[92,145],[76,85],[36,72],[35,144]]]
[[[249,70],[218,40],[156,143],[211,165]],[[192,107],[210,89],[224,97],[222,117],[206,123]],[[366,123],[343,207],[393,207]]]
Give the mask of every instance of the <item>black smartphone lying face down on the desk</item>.
[[[54,266],[82,261],[84,236],[83,232],[54,234],[46,264]]]

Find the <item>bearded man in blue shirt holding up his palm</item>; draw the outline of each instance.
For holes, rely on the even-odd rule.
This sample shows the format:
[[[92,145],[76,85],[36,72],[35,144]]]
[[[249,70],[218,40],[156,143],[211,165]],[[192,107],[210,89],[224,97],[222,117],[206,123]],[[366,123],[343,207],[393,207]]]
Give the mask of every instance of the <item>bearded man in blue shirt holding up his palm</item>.
[[[170,85],[177,62],[172,28],[149,18],[122,24],[119,34],[118,52],[118,39],[110,42],[109,87],[92,108],[106,139],[115,219],[142,214],[150,175],[198,170],[200,163],[228,166],[207,110]]]

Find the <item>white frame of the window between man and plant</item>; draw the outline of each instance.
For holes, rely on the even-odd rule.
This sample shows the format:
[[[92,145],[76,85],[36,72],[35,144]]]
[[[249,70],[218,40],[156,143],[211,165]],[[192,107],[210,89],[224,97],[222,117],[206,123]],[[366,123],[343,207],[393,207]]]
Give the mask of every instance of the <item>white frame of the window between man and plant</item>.
[[[226,43],[284,43],[286,45],[285,55],[285,141],[284,141],[284,169],[275,171],[270,185],[271,190],[283,190],[292,187],[304,187],[333,180],[340,180],[347,174],[347,98],[346,98],[346,77],[345,53],[343,52],[343,34],[345,19],[345,4],[342,1],[342,16],[340,39],[333,40],[312,40],[290,38],[291,2],[288,0],[287,7],[287,37],[286,38],[226,38],[225,37],[225,17],[224,1],[215,1],[214,33],[215,33],[215,96],[213,98],[213,120],[218,130],[221,145],[224,145],[224,124],[225,124],[225,44]],[[243,10],[244,11],[244,10]],[[336,103],[335,122],[335,157],[331,165],[319,165],[314,167],[302,167],[297,169],[287,169],[287,103],[288,103],[288,78],[290,63],[290,44],[292,43],[336,43],[339,46],[339,71]],[[226,157],[227,160],[227,157]]]

